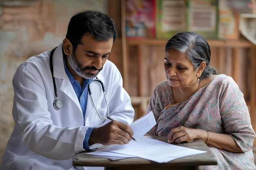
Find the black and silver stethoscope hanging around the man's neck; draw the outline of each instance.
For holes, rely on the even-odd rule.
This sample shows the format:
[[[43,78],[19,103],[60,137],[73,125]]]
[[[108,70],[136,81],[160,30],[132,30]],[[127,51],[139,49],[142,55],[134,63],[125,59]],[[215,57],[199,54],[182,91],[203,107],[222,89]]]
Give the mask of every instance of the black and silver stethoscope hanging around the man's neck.
[[[56,110],[59,110],[60,108],[63,108],[63,101],[61,99],[58,99],[58,92],[57,92],[57,88],[56,88],[56,82],[55,82],[55,78],[53,76],[53,64],[52,64],[52,56],[53,56],[53,53],[54,51],[56,50],[57,47],[55,47],[54,49],[52,49],[51,53],[50,53],[50,70],[51,70],[51,73],[52,73],[52,81],[53,81],[53,86],[54,86],[54,93],[55,93],[55,97],[56,99],[53,101],[53,107],[56,109]],[[104,84],[101,80],[99,80],[97,77],[96,79],[93,79],[92,82],[99,82],[101,84],[101,88],[102,88],[102,91],[104,93],[104,97],[105,97],[105,101],[106,101],[106,105],[107,105],[107,108],[108,108],[108,101],[107,101],[107,97],[106,97],[106,93],[105,93],[105,87],[104,87]],[[91,82],[91,83],[92,83]],[[92,97],[92,91],[91,91],[91,88],[90,88],[90,85],[91,83],[88,85],[88,92],[90,94],[90,97],[92,99],[92,104],[99,116],[100,119],[102,120],[105,120],[105,119],[110,119],[112,120],[110,117],[109,117],[109,108],[108,108],[108,116],[107,117],[101,117],[101,115],[99,114],[96,106],[95,106],[95,103],[94,103],[94,100],[93,100],[93,97]]]

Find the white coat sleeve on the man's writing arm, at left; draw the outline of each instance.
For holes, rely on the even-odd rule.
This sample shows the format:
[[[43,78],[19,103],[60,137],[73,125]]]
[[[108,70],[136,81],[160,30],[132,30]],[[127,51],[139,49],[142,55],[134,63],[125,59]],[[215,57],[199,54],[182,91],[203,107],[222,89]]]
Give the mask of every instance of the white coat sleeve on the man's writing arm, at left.
[[[22,142],[31,151],[50,159],[69,159],[76,152],[83,151],[87,128],[53,124],[46,94],[46,88],[52,86],[52,82],[47,84],[43,78],[47,71],[40,73],[33,64],[18,67],[13,77],[13,119]],[[81,147],[75,151],[76,141],[81,142]]]

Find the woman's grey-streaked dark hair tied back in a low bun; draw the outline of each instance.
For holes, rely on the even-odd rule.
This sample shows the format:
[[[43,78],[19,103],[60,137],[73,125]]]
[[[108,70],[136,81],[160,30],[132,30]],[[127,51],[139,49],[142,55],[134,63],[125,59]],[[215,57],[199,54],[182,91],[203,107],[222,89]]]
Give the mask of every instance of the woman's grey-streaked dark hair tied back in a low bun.
[[[201,62],[205,62],[206,66],[200,79],[218,74],[218,71],[210,66],[211,49],[207,40],[200,33],[179,32],[165,44],[165,52],[168,49],[174,49],[185,54],[192,62],[195,70],[199,68]]]

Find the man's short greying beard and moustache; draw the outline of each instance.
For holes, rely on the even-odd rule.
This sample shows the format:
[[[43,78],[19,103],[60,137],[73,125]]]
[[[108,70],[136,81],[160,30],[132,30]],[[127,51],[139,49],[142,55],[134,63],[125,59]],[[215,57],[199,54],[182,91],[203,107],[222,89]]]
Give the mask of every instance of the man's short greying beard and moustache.
[[[70,55],[70,57],[68,58],[68,62],[70,63],[71,68],[76,72],[76,74],[81,76],[81,77],[83,77],[83,78],[85,78],[85,79],[93,79],[93,78],[95,78],[99,74],[99,72],[102,70],[102,68],[103,68],[102,67],[101,69],[97,69],[94,66],[92,66],[92,67],[87,66],[85,68],[82,68],[81,64],[77,61],[76,55],[74,53],[72,53]],[[90,70],[98,70],[98,73],[96,73],[96,74],[92,74],[90,72],[85,73],[85,71],[89,70],[89,69]]]

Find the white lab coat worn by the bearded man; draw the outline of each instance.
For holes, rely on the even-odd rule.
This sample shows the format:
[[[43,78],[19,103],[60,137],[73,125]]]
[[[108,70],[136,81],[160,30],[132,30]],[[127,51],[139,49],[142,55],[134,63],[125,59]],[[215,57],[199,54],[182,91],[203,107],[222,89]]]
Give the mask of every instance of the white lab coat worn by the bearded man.
[[[99,118],[90,95],[83,119],[79,100],[65,73],[62,44],[54,52],[53,68],[58,99],[64,105],[60,110],[54,109],[56,97],[49,66],[50,52],[30,57],[18,67],[13,77],[15,128],[0,170],[69,170],[72,157],[84,151],[83,139],[88,127],[102,126],[110,121]],[[97,77],[105,86],[110,117],[126,124],[132,123],[134,109],[122,87],[117,67],[108,60]],[[107,116],[100,84],[94,81],[90,88],[99,113],[102,117]],[[94,144],[90,148],[98,146]]]

